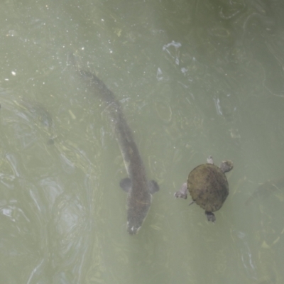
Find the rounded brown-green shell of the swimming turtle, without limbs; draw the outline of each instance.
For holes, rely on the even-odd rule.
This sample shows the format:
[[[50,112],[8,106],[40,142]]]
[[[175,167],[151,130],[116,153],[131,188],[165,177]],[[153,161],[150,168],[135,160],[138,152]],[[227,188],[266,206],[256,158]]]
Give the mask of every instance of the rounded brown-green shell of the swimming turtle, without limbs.
[[[192,200],[207,212],[219,210],[229,195],[226,175],[214,164],[194,168],[187,179],[187,189]]]

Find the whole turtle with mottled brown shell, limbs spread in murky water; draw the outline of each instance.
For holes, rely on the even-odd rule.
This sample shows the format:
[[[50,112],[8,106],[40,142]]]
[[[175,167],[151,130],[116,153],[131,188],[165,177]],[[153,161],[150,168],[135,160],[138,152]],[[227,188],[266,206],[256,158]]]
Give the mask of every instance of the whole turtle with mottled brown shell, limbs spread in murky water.
[[[207,158],[207,163],[194,168],[187,178],[180,191],[175,192],[175,197],[187,199],[187,190],[192,197],[192,203],[200,205],[205,210],[207,220],[215,222],[213,212],[219,210],[226,197],[229,195],[229,184],[226,179],[226,172],[233,168],[231,160],[224,160],[220,167],[214,165],[212,156]]]

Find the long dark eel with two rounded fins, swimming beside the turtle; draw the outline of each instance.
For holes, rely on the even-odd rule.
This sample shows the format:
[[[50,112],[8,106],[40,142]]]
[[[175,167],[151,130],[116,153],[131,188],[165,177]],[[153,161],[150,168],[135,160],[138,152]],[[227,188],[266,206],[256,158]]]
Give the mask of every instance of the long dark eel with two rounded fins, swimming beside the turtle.
[[[127,192],[127,231],[131,235],[137,234],[148,214],[152,194],[159,190],[158,183],[146,178],[143,160],[114,93],[92,72],[82,69],[77,71],[88,87],[107,104],[106,110],[128,174],[128,178],[120,182],[121,188]]]

